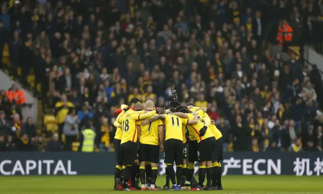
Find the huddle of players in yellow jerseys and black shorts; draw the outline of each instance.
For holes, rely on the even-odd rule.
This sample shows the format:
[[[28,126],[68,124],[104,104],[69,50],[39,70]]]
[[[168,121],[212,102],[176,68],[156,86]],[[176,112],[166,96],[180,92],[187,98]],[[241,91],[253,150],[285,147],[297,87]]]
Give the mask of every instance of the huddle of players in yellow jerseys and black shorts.
[[[117,127],[116,190],[157,190],[157,164],[159,152],[163,151],[167,176],[161,189],[223,189],[221,132],[206,114],[206,108],[194,107],[192,103],[180,106],[174,100],[169,110],[155,110],[150,100],[141,104],[138,99],[132,99],[131,107],[121,106],[114,123]],[[189,135],[189,140],[186,135]],[[195,161],[199,163],[198,182],[193,177]],[[170,181],[172,187],[169,186]]]

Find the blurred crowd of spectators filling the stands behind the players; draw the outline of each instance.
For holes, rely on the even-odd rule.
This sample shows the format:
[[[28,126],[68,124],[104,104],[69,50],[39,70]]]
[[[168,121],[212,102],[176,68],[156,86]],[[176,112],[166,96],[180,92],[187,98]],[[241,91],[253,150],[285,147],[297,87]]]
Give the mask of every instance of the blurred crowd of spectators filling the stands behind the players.
[[[171,87],[207,107],[224,151],[321,151],[320,73],[285,48],[322,48],[321,0],[2,2],[0,67],[41,116],[23,123],[24,93],[2,88],[0,151],[77,151],[85,127],[114,151],[116,109],[166,107]]]

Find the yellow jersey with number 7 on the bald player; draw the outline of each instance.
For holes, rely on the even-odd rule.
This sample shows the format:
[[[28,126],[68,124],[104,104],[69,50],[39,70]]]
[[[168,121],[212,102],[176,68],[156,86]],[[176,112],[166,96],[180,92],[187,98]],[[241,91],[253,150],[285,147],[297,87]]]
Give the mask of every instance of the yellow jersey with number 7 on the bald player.
[[[154,114],[153,116],[157,116],[158,114]],[[147,119],[151,119],[147,118]],[[139,142],[142,144],[149,144],[149,145],[158,145],[159,144],[159,138],[158,138],[158,127],[163,126],[163,121],[156,120],[149,125],[142,126],[140,122],[138,123],[138,126],[141,128],[141,135],[139,138]]]

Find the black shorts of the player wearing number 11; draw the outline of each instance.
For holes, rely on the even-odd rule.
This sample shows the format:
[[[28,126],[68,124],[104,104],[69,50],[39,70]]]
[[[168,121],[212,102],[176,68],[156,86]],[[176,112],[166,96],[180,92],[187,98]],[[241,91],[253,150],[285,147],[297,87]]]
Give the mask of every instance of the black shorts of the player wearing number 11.
[[[165,162],[167,164],[183,164],[183,147],[184,144],[178,139],[168,139],[165,141]]]

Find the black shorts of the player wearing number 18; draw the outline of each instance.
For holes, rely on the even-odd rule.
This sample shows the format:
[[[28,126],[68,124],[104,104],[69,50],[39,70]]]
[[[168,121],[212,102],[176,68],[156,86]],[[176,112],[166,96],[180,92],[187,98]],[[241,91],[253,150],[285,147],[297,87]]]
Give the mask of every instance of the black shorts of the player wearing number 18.
[[[121,144],[122,165],[134,165],[137,160],[137,144],[136,142],[127,141]]]

